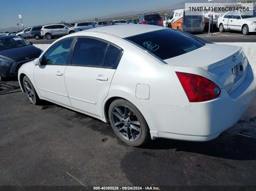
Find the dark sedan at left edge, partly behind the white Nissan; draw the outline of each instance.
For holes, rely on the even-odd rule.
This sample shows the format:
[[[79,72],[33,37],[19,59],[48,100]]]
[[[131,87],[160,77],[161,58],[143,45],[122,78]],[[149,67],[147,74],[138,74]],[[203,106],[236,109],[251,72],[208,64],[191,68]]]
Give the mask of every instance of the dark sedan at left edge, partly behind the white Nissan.
[[[22,64],[34,60],[43,51],[22,37],[0,37],[0,81],[8,76],[18,76]]]

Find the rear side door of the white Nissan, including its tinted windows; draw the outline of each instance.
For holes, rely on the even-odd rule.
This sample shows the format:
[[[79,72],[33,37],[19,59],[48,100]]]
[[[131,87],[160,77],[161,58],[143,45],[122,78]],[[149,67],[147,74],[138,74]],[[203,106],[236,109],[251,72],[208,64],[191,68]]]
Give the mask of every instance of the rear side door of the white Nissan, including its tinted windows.
[[[120,52],[119,48],[101,40],[78,38],[71,64],[65,71],[72,107],[103,117],[102,103],[108,95]]]

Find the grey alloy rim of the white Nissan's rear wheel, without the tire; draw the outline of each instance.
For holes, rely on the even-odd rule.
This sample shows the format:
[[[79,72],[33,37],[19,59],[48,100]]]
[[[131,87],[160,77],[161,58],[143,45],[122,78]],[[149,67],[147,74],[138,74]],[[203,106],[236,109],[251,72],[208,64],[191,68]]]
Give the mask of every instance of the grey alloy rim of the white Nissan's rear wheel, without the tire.
[[[112,110],[112,121],[117,133],[128,141],[135,142],[141,136],[141,124],[136,114],[124,105]]]

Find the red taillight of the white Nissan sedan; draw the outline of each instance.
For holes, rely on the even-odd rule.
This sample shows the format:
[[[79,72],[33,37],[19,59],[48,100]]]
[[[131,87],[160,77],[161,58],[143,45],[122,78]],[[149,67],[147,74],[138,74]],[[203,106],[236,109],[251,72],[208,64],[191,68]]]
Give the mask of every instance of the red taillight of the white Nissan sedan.
[[[211,80],[199,75],[176,72],[189,102],[201,102],[214,99],[221,93],[220,88]]]

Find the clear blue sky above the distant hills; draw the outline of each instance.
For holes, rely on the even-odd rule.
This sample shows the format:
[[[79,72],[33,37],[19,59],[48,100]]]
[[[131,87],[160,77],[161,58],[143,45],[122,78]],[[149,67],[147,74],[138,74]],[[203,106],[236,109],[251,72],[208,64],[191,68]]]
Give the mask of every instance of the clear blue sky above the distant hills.
[[[184,0],[1,0],[0,28],[17,27],[22,14],[24,26],[71,22],[110,14],[144,11],[173,5]]]

